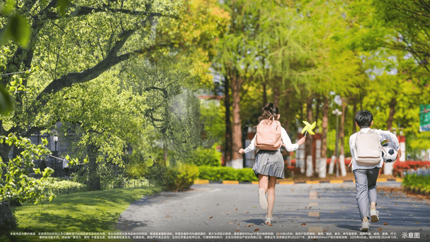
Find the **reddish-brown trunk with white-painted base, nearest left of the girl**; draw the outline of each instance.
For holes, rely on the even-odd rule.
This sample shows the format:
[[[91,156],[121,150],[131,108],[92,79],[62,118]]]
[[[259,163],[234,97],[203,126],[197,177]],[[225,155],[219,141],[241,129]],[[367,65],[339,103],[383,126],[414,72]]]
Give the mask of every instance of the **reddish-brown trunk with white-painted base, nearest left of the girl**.
[[[241,129],[241,119],[240,119],[240,86],[243,83],[243,79],[234,73],[231,79],[231,96],[232,96],[232,162],[237,163],[236,167],[243,166],[243,163],[239,164],[242,160],[242,155],[238,153],[238,150],[242,147],[242,129]],[[233,166],[235,166],[233,164]]]

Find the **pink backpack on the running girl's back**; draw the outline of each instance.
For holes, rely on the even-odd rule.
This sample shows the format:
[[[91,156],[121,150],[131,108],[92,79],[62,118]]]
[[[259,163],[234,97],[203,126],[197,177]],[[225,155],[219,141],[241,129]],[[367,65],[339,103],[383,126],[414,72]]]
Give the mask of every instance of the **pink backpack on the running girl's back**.
[[[281,128],[278,120],[263,119],[256,125],[255,147],[266,150],[276,150],[282,145]]]

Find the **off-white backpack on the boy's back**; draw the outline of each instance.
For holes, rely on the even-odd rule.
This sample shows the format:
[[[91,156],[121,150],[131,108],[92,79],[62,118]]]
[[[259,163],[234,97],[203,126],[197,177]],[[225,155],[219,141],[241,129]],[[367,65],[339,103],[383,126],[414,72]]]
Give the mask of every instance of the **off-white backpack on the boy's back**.
[[[375,129],[370,129],[367,132],[362,132],[361,130],[357,132],[354,158],[358,165],[363,166],[374,166],[380,162],[382,159],[382,146]]]

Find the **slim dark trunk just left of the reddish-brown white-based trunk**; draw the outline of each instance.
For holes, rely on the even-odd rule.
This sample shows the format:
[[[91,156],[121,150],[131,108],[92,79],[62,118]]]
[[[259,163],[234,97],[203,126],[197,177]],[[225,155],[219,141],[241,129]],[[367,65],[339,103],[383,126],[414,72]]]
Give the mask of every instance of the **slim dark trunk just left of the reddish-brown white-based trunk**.
[[[231,139],[231,119],[230,119],[230,84],[229,76],[224,78],[224,106],[225,106],[225,146],[224,161],[225,164],[232,158],[232,139]]]

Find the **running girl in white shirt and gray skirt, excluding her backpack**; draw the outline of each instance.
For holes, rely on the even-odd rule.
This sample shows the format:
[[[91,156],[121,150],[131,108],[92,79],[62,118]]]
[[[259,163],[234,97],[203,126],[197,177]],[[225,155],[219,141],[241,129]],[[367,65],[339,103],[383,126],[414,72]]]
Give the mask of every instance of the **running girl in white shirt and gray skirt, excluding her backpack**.
[[[262,114],[258,117],[258,122],[263,119],[278,120],[280,117],[279,109],[273,106],[273,103],[267,103],[262,108]],[[291,143],[288,134],[283,127],[281,128],[282,145],[285,146],[287,151],[294,151],[299,145],[304,143],[306,137],[300,138],[297,143]],[[251,143],[245,149],[240,148],[239,153],[244,154],[256,149],[255,137],[253,137]],[[255,175],[258,177],[258,196],[259,202],[262,209],[267,209],[267,215],[264,223],[270,224],[272,222],[272,211],[274,204],[274,186],[276,179],[282,179],[284,176],[284,161],[282,154],[280,153],[280,147],[277,150],[265,150],[259,149],[255,155],[255,163],[252,167]],[[267,199],[265,196],[267,193]]]

